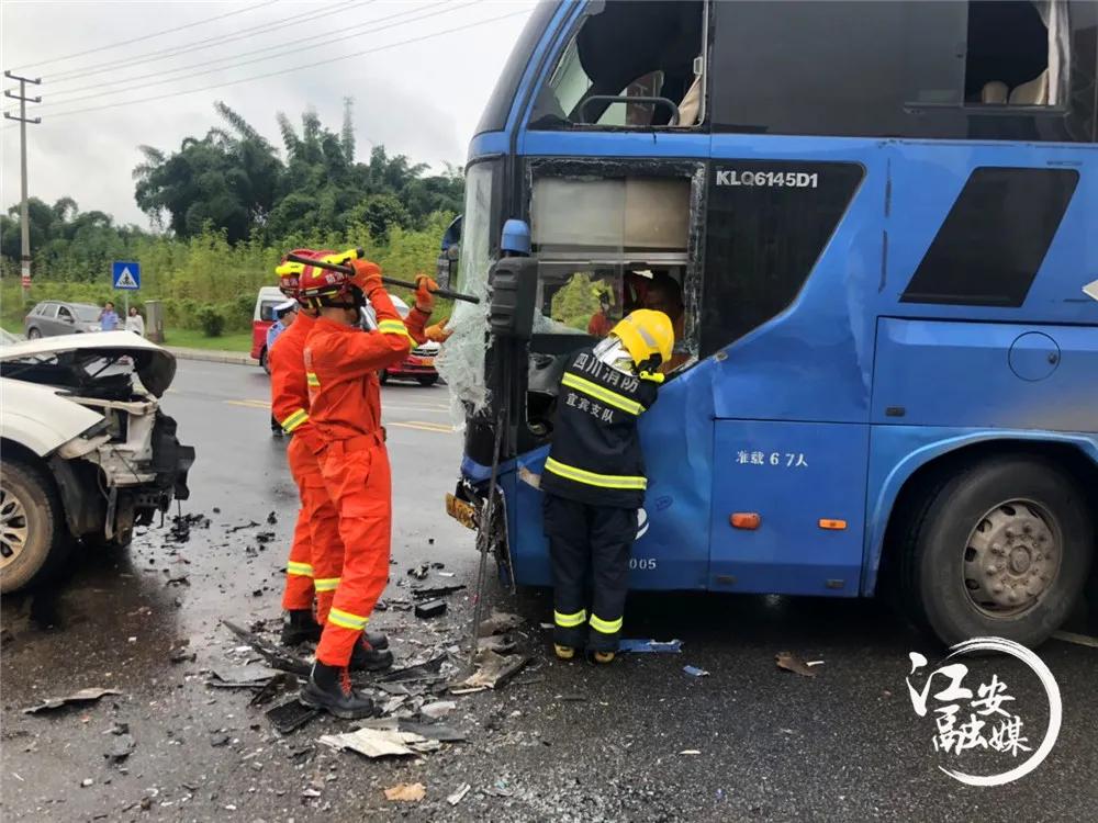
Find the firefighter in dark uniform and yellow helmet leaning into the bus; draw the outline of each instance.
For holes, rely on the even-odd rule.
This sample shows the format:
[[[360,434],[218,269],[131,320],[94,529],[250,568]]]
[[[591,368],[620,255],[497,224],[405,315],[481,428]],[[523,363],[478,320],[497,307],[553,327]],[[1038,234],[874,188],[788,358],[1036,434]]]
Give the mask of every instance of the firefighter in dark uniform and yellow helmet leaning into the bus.
[[[656,402],[659,368],[674,340],[665,314],[639,309],[594,348],[573,354],[561,377],[541,475],[561,659],[585,647],[596,663],[609,663],[617,651],[629,551],[648,485],[637,421]]]

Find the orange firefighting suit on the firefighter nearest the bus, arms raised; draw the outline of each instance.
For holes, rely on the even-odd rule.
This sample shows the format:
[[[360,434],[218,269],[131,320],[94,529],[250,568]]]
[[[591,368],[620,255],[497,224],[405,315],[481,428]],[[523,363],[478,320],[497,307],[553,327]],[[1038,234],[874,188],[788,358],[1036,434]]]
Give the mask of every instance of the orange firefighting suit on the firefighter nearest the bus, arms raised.
[[[378,371],[425,339],[428,317],[414,308],[405,326],[384,290],[369,297],[378,330],[322,317],[305,341],[310,421],[320,435],[321,471],[344,544],[343,571],[316,647],[316,659],[328,666],[347,665],[389,579],[392,492]]]

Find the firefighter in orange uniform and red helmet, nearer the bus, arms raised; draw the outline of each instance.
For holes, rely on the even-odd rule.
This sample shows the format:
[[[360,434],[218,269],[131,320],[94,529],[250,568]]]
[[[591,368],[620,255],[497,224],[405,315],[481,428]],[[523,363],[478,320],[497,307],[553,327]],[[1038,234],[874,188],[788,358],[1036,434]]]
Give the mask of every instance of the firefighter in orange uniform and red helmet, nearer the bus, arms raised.
[[[305,267],[300,283],[302,296],[320,314],[304,348],[309,415],[344,544],[339,584],[301,701],[354,720],[373,712],[373,701],[351,688],[349,668],[359,667],[356,659],[376,667],[369,664],[379,652],[363,632],[389,578],[392,494],[378,372],[401,362],[424,339],[437,285],[417,279],[416,308],[405,326],[377,263],[349,264],[354,275]],[[373,331],[358,327],[367,300],[377,316]]]

